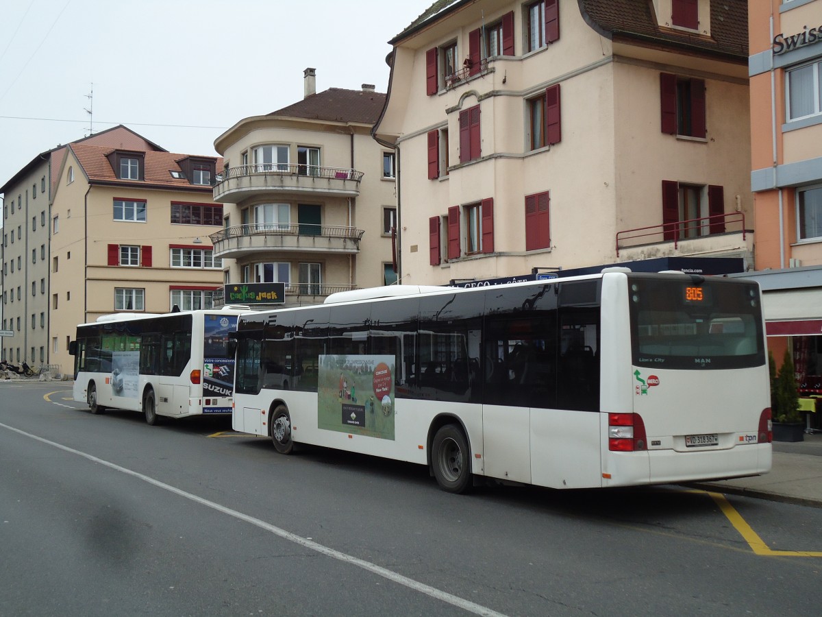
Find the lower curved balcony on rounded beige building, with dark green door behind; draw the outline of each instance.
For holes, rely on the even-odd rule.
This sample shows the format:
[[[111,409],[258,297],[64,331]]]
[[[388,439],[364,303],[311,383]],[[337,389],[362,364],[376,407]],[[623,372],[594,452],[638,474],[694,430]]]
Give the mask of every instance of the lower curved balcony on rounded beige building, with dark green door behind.
[[[260,223],[226,227],[209,238],[215,257],[238,259],[264,251],[351,255],[359,252],[364,233],[353,227],[333,225]]]

